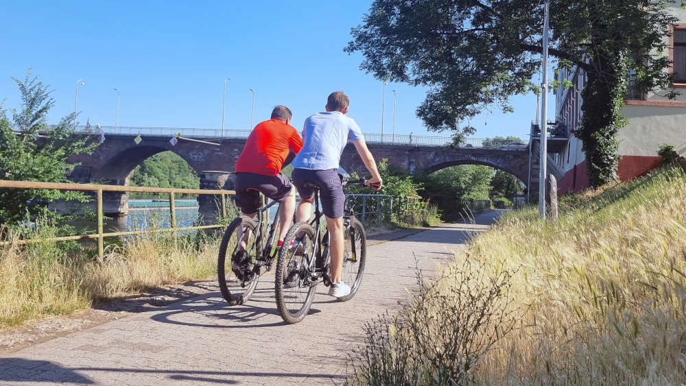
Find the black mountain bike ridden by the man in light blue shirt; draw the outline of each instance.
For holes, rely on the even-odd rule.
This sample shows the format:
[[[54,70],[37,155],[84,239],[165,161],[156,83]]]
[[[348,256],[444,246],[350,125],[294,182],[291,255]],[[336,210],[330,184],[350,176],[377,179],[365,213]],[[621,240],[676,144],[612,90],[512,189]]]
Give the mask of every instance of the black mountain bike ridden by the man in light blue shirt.
[[[341,176],[342,184],[364,184],[364,180],[349,181]],[[319,208],[319,187],[315,189],[314,219],[309,223],[301,221],[294,224],[286,234],[279,260],[276,262],[274,285],[276,287],[276,306],[283,320],[288,324],[300,322],[309,312],[314,299],[316,286],[324,282],[331,285],[329,268],[329,231],[323,236],[320,229],[322,216]],[[351,286],[350,295],[339,298],[351,300],[362,282],[367,250],[367,238],[362,223],[355,219],[355,211],[350,208],[346,196],[343,215],[344,252],[343,281]]]

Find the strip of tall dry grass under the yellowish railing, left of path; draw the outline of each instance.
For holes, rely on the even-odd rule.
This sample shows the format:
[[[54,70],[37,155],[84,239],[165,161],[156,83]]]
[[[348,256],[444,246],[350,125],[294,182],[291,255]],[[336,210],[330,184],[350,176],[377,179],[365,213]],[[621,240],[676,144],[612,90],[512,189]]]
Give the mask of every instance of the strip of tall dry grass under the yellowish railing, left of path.
[[[35,237],[50,237],[41,227]],[[60,243],[0,247],[0,328],[86,309],[93,302],[216,273],[219,241],[170,234],[110,245],[102,260]]]

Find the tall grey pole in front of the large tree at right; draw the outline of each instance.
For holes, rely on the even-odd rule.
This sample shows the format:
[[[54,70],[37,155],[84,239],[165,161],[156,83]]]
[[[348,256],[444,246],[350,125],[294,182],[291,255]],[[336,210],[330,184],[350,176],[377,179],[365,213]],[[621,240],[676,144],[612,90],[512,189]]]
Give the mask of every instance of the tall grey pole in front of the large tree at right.
[[[548,106],[548,29],[550,18],[550,0],[545,0],[545,20],[543,21],[543,82],[541,82],[541,173],[539,174],[539,215],[545,220],[545,180],[547,178],[547,106]]]

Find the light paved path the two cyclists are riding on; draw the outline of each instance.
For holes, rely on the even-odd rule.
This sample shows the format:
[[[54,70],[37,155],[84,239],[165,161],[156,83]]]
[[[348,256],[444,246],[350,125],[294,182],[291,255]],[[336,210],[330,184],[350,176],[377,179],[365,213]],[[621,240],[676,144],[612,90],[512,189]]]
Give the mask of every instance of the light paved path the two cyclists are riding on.
[[[244,306],[209,293],[0,357],[0,384],[331,385],[359,346],[364,322],[407,299],[415,259],[430,275],[491,219],[486,213],[476,224],[444,224],[372,245],[355,298],[337,302],[320,285],[298,324],[283,324],[273,283],[265,281]]]

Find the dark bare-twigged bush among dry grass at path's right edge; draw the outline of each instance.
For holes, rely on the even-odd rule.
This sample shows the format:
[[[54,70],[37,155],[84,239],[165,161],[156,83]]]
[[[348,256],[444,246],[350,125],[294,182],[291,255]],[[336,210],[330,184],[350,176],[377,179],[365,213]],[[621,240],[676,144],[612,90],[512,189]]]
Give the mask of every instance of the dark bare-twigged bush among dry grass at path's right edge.
[[[513,272],[489,276],[469,258],[426,282],[395,317],[366,324],[366,346],[351,354],[348,385],[461,385],[480,358],[513,330],[508,308]]]

